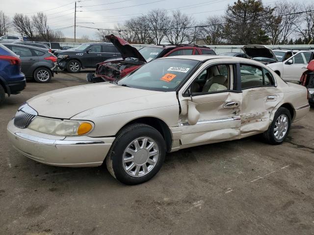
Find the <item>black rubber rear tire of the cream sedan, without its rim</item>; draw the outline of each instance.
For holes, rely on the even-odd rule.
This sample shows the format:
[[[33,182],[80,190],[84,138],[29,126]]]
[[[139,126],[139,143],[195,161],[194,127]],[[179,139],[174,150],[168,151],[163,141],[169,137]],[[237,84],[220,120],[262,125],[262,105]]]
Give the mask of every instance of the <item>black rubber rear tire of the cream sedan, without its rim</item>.
[[[288,129],[285,133],[285,135],[281,138],[281,139],[278,139],[275,137],[275,125],[276,125],[276,121],[277,119],[281,116],[281,115],[286,115],[287,118],[288,118]],[[275,113],[275,116],[274,116],[274,119],[272,121],[272,123],[270,124],[270,126],[268,127],[268,130],[265,131],[263,133],[263,138],[265,141],[267,141],[268,143],[270,144],[281,144],[283,143],[288,134],[289,134],[289,130],[290,130],[290,127],[291,127],[291,115],[290,115],[290,112],[288,109],[284,108],[284,107],[280,107],[277,112]]]

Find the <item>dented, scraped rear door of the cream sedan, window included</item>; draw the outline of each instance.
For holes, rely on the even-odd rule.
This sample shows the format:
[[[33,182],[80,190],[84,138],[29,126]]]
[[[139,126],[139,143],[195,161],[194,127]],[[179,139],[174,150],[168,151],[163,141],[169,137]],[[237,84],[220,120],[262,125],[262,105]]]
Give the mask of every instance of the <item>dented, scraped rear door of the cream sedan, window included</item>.
[[[268,129],[270,114],[282,100],[272,74],[263,67],[240,64],[242,90],[241,134]]]

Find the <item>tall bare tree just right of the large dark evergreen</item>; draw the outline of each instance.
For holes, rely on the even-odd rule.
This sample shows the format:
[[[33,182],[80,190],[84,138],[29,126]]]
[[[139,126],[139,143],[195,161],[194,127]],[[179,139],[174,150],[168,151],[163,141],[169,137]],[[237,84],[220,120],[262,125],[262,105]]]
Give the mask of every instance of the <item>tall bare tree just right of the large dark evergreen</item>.
[[[288,37],[300,22],[301,15],[294,14],[300,9],[300,5],[295,2],[277,2],[275,4],[272,16],[265,20],[265,30],[273,45],[288,42]]]

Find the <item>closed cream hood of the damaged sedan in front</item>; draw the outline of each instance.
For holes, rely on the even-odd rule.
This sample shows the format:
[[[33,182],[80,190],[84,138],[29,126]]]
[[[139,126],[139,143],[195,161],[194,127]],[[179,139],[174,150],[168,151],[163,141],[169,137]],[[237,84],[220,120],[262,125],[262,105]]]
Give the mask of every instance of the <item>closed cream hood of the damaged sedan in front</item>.
[[[163,92],[118,86],[109,82],[63,88],[37,95],[27,103],[39,116],[69,119],[106,104],[138,100],[139,97]],[[137,101],[138,102],[138,101]]]

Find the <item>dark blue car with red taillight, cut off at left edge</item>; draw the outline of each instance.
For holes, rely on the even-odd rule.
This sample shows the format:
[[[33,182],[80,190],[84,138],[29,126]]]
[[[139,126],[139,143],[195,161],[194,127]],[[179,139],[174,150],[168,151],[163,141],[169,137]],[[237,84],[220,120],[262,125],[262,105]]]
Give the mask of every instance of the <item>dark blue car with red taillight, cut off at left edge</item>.
[[[7,47],[0,44],[0,104],[5,93],[19,94],[26,87],[26,79],[21,72],[20,58]]]

